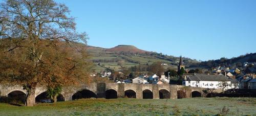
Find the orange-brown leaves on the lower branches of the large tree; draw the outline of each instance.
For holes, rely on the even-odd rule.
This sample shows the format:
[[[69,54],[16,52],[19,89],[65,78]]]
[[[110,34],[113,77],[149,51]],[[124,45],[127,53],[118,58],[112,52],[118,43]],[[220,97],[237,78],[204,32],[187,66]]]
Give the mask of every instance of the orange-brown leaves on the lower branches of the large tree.
[[[37,48],[19,48],[9,53],[2,53],[0,49],[0,74],[5,75],[5,80],[17,83],[30,83],[66,86],[90,82],[88,55],[83,49],[69,46],[61,41],[41,40],[36,44]],[[33,48],[31,44],[29,48]],[[4,54],[4,55],[2,55]],[[33,57],[30,56],[33,54]],[[38,61],[34,66],[34,61]],[[10,78],[10,77],[18,78]]]

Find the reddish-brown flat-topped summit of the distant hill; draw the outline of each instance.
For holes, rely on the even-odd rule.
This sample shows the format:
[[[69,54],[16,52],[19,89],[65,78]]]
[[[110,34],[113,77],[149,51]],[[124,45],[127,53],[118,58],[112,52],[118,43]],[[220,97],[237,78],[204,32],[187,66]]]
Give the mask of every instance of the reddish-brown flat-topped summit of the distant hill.
[[[108,51],[108,52],[129,52],[129,53],[146,53],[146,52],[148,52],[148,51],[140,50],[133,45],[117,45],[114,48],[106,49],[106,51]]]

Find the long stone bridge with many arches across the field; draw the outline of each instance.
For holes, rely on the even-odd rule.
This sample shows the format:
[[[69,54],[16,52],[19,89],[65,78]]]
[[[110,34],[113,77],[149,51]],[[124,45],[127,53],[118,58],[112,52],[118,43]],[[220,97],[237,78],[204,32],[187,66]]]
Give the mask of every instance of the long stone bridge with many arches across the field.
[[[90,83],[79,86],[63,87],[58,101],[70,101],[81,98],[136,98],[136,99],[180,99],[203,97],[200,87],[185,87],[181,85],[157,84],[117,84]],[[38,86],[34,94],[35,102],[47,99],[47,87]],[[220,90],[217,90],[220,92]],[[26,97],[22,85],[0,85],[1,97]]]

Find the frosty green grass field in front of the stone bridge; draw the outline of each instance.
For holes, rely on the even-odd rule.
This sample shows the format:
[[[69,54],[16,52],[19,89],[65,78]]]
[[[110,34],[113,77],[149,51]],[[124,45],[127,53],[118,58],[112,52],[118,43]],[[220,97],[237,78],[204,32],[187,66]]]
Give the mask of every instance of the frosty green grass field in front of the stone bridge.
[[[34,107],[1,103],[0,115],[256,115],[255,106],[256,98],[81,99]]]

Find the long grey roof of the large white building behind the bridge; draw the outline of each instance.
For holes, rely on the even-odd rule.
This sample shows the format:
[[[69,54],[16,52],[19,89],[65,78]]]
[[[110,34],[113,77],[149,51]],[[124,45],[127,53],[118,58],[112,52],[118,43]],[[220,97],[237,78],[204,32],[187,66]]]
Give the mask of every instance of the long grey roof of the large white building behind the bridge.
[[[193,75],[187,76],[191,81],[230,81],[224,75]]]

